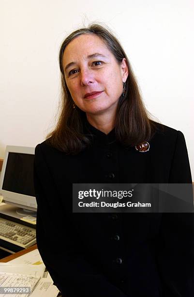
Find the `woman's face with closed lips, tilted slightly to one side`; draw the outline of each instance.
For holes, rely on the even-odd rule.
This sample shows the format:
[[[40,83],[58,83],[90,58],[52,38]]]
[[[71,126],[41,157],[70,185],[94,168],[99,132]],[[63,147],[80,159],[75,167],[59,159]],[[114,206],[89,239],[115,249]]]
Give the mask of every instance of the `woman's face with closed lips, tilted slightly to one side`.
[[[114,114],[128,76],[126,59],[115,56],[95,34],[82,34],[64,50],[65,81],[75,104],[88,115]],[[89,95],[98,92],[96,95]]]

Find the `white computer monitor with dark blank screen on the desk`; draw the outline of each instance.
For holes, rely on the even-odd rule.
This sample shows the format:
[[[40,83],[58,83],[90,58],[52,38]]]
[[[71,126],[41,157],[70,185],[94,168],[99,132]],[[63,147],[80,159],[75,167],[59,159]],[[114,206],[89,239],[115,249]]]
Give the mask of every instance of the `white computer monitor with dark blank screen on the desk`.
[[[0,194],[7,204],[17,206],[17,214],[36,215],[33,183],[35,148],[7,146],[0,175]]]

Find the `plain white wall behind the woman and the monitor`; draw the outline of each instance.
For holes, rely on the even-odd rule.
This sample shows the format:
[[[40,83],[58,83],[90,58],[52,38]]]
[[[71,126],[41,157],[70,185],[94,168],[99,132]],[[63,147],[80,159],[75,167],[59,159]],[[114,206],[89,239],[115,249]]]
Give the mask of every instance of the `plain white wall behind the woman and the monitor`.
[[[194,180],[194,1],[0,0],[0,157],[54,125],[62,40],[101,21],[121,41],[148,110],[184,133]]]

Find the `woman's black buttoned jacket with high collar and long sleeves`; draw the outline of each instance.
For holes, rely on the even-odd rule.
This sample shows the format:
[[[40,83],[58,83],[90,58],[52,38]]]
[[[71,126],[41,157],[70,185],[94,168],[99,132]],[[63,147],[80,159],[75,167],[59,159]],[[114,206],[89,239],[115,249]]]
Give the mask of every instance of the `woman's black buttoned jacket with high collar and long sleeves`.
[[[191,183],[184,135],[163,126],[142,153],[87,126],[92,147],[77,155],[35,148],[37,245],[54,283],[66,297],[194,297],[194,214],[72,213],[72,183]]]

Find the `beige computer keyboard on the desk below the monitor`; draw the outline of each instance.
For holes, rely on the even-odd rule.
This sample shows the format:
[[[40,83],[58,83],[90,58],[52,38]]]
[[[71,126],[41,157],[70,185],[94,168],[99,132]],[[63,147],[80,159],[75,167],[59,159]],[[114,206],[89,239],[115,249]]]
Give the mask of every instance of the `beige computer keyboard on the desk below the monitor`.
[[[36,243],[36,230],[0,217],[0,239],[27,248]]]

